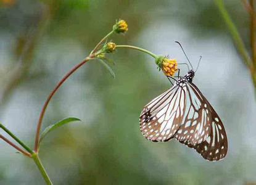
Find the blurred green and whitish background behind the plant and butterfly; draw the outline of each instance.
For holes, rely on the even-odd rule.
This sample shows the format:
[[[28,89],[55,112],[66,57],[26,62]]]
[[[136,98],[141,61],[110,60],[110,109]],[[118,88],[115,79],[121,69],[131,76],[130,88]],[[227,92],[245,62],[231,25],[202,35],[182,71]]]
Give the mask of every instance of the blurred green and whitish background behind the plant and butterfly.
[[[225,1],[249,47],[249,17],[241,1]],[[49,91],[112,29],[129,25],[117,44],[155,54],[202,61],[194,83],[220,115],[228,155],[208,162],[170,141],[149,142],[139,131],[142,107],[170,88],[154,60],[120,49],[115,80],[96,60],[80,68],[52,99],[43,128],[65,117],[71,123],[47,135],[40,157],[55,184],[254,184],[256,104],[249,72],[233,46],[213,1],[1,0],[0,120],[29,146]],[[181,74],[187,72],[181,67]],[[4,134],[1,131],[1,134]],[[6,134],[4,134],[6,136]],[[0,142],[0,184],[44,184],[33,160]]]

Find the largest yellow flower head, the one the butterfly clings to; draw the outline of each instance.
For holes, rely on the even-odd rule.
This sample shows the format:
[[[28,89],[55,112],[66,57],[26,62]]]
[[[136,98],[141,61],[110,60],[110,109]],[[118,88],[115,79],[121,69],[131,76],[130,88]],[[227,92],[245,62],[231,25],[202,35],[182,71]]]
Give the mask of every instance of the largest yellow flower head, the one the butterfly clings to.
[[[163,73],[167,76],[173,76],[177,70],[177,61],[176,59],[163,58],[160,68],[162,68]]]

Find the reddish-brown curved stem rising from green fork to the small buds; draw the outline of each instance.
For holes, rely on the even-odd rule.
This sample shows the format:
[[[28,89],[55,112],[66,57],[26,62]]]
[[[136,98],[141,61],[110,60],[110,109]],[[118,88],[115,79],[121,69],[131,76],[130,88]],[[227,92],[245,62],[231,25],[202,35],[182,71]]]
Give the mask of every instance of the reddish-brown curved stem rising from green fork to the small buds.
[[[44,113],[46,111],[47,105],[51,101],[52,96],[54,96],[55,92],[60,88],[60,86],[65,82],[65,80],[68,79],[68,77],[70,75],[72,75],[78,68],[80,68],[82,65],[84,65],[86,62],[88,62],[90,59],[93,59],[94,57],[95,57],[95,54],[92,54],[92,55],[89,55],[88,57],[86,57],[85,59],[81,60],[80,63],[76,64],[71,70],[69,70],[67,72],[67,74],[59,81],[59,83],[56,84],[54,89],[50,92],[49,96],[46,99],[46,102],[44,102],[43,108],[42,108],[42,110],[40,112],[40,115],[39,115],[38,124],[37,124],[37,127],[36,127],[35,146],[34,146],[34,150],[35,150],[36,153],[38,152],[39,138],[40,138],[40,128],[41,128],[41,125],[42,125]]]

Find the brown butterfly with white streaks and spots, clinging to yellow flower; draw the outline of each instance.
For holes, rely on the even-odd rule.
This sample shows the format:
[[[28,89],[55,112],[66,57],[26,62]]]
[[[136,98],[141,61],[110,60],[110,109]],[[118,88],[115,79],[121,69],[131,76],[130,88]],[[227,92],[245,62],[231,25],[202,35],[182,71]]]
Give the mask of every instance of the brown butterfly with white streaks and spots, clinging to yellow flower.
[[[226,131],[212,105],[192,83],[194,75],[189,70],[176,79],[169,76],[175,84],[144,106],[139,117],[140,130],[150,141],[175,138],[196,149],[206,160],[217,161],[228,151]]]

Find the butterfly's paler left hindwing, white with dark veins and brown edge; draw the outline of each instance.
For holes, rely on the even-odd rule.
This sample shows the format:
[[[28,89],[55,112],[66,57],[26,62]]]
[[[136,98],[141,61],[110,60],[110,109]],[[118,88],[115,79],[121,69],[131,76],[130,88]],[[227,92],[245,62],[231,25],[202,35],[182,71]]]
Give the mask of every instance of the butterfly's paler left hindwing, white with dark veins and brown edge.
[[[187,88],[173,86],[147,104],[139,117],[142,134],[150,141],[168,141],[180,128]]]

